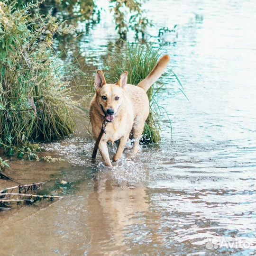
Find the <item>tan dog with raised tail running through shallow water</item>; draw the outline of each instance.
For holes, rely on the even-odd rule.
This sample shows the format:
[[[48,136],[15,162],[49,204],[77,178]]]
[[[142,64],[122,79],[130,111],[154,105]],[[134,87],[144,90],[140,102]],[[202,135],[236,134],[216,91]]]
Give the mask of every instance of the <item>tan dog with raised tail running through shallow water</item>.
[[[96,92],[90,104],[90,117],[95,138],[101,132],[103,120],[106,119],[109,122],[106,134],[103,134],[99,144],[105,165],[112,166],[107,142],[120,140],[117,152],[113,157],[113,161],[118,161],[122,156],[130,132],[135,139],[132,152],[137,154],[139,139],[149,114],[146,91],[164,72],[169,60],[169,56],[164,55],[151,73],[137,86],[127,84],[128,72],[122,73],[116,84],[110,84],[106,83],[104,73],[101,70],[97,71],[94,84]]]

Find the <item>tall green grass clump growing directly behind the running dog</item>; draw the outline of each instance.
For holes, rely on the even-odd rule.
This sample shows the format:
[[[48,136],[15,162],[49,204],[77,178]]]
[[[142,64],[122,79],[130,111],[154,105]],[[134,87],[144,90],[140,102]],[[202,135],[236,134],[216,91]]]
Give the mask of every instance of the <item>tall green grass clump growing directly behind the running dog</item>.
[[[152,45],[135,45],[127,43],[115,47],[104,60],[106,77],[110,82],[117,82],[121,73],[128,71],[128,83],[137,85],[152,71],[160,57],[160,49]],[[150,113],[144,126],[144,139],[149,142],[161,140],[161,119],[165,110],[159,105],[158,95],[163,83],[155,83],[147,91],[150,102]],[[166,115],[168,119],[168,116]],[[169,119],[168,119],[169,120]],[[169,120],[170,121],[170,120]]]

